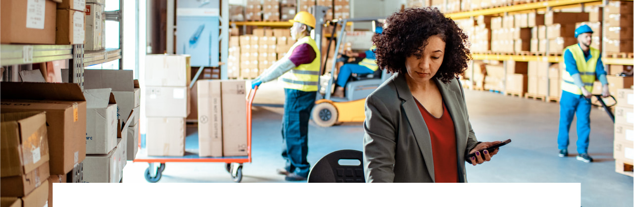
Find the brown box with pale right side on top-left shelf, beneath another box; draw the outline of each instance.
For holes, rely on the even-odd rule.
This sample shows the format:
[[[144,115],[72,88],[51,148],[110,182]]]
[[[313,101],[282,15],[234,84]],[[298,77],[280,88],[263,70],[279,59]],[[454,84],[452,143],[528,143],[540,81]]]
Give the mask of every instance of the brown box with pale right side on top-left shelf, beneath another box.
[[[55,28],[55,44],[84,44],[84,12],[58,9]]]

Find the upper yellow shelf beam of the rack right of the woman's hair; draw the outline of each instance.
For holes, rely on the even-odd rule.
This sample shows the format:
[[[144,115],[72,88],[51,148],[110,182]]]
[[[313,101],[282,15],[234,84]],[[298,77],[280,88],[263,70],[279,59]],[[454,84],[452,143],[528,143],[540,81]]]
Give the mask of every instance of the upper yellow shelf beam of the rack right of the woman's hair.
[[[505,12],[514,12],[514,11],[525,11],[531,9],[541,9],[547,8],[549,6],[565,6],[571,4],[581,4],[581,3],[591,3],[596,2],[597,0],[553,0],[553,1],[543,1],[536,3],[527,3],[527,4],[519,4],[513,6],[502,6],[498,8],[489,8],[489,9],[480,9],[475,11],[464,11],[458,13],[450,13],[447,16],[456,19],[469,18],[471,16],[480,16],[480,15],[495,15]]]

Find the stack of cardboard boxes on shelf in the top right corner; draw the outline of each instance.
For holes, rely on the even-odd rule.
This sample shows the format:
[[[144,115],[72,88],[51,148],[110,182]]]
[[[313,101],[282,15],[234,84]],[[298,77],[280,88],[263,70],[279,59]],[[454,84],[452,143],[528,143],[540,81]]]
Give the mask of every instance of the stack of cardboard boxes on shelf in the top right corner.
[[[632,32],[634,25],[631,1],[610,1],[605,7],[605,52],[632,53],[634,45]]]

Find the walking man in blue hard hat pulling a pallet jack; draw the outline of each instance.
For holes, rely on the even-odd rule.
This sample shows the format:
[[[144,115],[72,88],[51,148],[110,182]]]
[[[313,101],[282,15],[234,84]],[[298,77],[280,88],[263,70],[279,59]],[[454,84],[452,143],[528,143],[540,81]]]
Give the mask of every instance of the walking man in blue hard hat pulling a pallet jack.
[[[588,25],[581,25],[574,30],[574,37],[579,44],[566,47],[564,63],[566,71],[562,72],[562,94],[559,102],[559,156],[568,156],[568,131],[577,114],[577,160],[589,163],[592,158],[588,155],[590,136],[590,97],[592,86],[598,77],[602,85],[603,97],[610,96],[607,78],[598,49],[590,47],[592,43],[592,29]]]

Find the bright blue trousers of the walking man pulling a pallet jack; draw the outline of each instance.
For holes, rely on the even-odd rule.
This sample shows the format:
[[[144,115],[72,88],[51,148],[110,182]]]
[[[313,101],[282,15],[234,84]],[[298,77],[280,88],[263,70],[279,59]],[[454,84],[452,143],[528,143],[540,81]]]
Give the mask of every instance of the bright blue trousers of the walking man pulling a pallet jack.
[[[588,153],[590,142],[590,99],[571,92],[562,92],[559,101],[559,135],[557,144],[559,149],[567,149],[569,144],[569,130],[573,117],[577,115],[577,153]]]

